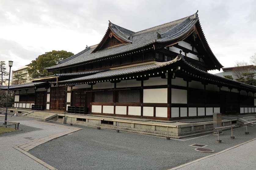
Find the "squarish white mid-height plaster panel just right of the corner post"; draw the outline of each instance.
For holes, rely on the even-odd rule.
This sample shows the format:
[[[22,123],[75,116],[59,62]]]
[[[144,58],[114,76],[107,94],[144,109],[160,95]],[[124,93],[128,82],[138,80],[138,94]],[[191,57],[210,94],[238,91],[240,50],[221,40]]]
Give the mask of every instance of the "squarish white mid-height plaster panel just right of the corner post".
[[[172,103],[187,104],[187,90],[172,88],[171,91],[172,91],[172,96],[171,96]]]

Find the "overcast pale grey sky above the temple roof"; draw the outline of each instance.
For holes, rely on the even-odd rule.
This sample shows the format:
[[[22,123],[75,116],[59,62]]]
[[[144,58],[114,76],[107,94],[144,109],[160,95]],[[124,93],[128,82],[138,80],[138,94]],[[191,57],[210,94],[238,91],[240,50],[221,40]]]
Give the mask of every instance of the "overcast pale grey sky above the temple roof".
[[[0,60],[13,60],[15,70],[47,51],[76,54],[99,43],[108,20],[136,32],[199,10],[213,53],[232,67],[256,53],[255,6],[256,1],[217,0],[0,0]]]

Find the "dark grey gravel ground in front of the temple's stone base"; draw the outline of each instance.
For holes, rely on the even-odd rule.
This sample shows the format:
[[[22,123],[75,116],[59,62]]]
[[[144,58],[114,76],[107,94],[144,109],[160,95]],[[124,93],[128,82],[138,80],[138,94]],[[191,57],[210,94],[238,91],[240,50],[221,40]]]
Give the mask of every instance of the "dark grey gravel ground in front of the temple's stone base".
[[[208,145],[205,148],[216,153],[256,137],[256,127],[248,127],[249,135],[244,135],[244,128],[234,130],[234,140],[229,139],[231,132],[225,131],[220,136],[222,144],[215,144],[214,135],[166,141],[162,137],[82,128],[39,145],[29,153],[59,170],[164,170],[213,154],[195,151],[191,144]]]

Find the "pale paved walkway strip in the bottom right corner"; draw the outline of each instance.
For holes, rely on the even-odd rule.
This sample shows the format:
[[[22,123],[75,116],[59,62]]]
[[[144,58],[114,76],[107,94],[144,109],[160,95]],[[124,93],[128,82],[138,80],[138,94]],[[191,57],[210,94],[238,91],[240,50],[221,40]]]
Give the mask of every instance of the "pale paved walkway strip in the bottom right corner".
[[[221,169],[221,170],[254,170],[256,169],[256,140],[232,148],[215,156],[211,156],[200,161],[184,166],[181,168],[173,168],[178,170],[205,170],[205,169]],[[182,167],[183,166],[183,167]]]

